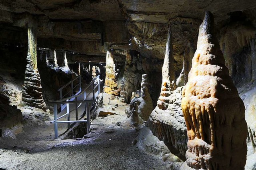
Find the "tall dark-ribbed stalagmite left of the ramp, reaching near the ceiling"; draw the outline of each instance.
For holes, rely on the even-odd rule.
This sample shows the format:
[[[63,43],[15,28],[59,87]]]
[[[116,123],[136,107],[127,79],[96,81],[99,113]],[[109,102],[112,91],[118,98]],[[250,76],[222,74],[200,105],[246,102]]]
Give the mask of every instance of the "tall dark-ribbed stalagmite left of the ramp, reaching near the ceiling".
[[[46,105],[42,96],[41,79],[36,61],[36,28],[37,23],[30,20],[28,24],[28,55],[25,71],[25,81],[22,86],[22,101],[32,107],[46,111]]]

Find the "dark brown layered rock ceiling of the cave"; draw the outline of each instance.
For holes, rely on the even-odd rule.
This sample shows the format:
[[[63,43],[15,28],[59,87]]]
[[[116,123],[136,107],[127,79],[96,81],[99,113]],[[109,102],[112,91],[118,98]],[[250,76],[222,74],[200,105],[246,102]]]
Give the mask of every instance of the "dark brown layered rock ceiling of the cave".
[[[176,67],[181,69],[184,51],[196,48],[206,10],[219,25],[242,11],[255,27],[255,9],[255,0],[1,0],[0,22],[26,27],[20,24],[24,18],[37,17],[39,47],[100,57],[107,48],[136,49],[158,59],[164,59],[169,23]]]

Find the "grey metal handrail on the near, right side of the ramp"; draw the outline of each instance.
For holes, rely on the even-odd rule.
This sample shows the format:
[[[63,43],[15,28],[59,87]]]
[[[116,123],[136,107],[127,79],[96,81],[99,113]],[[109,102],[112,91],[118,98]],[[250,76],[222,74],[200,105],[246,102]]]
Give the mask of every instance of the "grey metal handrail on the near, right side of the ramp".
[[[96,80],[97,80],[97,85],[95,86]],[[91,85],[92,85],[92,91],[88,95],[86,95],[86,90]],[[98,91],[97,91],[97,93],[95,93],[95,88],[97,86],[98,86]],[[72,84],[72,87],[73,87],[73,84]],[[81,88],[81,85],[80,85],[80,88]],[[62,89],[61,89],[60,92],[62,92]],[[86,98],[89,97],[89,95],[92,92],[93,92],[92,99],[87,100]],[[83,100],[77,100],[78,97],[80,97],[82,94],[84,94],[84,96],[82,98]],[[98,75],[95,79],[93,79],[86,86],[86,88],[83,91],[81,91],[81,89],[80,89],[80,93],[77,93],[77,95],[74,95],[74,96],[71,96],[71,97],[66,97],[65,99],[60,99],[60,100],[48,103],[48,104],[54,105],[54,120],[50,122],[50,123],[54,123],[54,137],[58,138],[58,126],[57,126],[58,123],[68,123],[68,129],[69,129],[70,128],[70,123],[73,123],[73,122],[76,122],[76,123],[78,123],[78,122],[87,122],[87,133],[89,133],[89,130],[90,130],[90,109],[95,108],[96,98],[98,97],[99,94],[100,94],[100,75]],[[74,99],[75,99],[75,101],[73,101]],[[72,111],[76,110],[76,121],[70,121],[70,113],[72,111],[70,111],[70,106],[69,105],[73,104],[73,103],[75,104],[75,109],[72,109]],[[79,106],[78,106],[78,103],[80,103]],[[86,120],[78,120],[78,108],[82,105],[82,103],[85,103],[85,111],[86,111],[86,117],[87,117]],[[90,103],[92,103],[92,105],[90,105]],[[66,107],[67,113],[64,113],[64,115],[58,117],[57,105],[61,105],[61,108],[62,108],[63,104],[66,105],[65,107]],[[65,117],[65,116],[67,116],[67,121],[58,121],[59,119]],[[81,119],[81,117],[80,117],[80,119]]]

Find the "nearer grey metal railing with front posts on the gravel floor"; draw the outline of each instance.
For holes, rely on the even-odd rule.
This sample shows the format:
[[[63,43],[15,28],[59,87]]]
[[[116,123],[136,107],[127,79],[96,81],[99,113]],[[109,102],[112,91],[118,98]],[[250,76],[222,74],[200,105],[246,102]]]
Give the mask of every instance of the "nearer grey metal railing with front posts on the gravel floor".
[[[71,81],[70,81],[71,82]],[[95,84],[96,82],[96,84]],[[66,85],[65,85],[66,86]],[[92,90],[90,89],[92,87]],[[90,91],[91,90],[91,91]],[[96,90],[96,92],[95,92]],[[96,98],[100,94],[100,75],[98,75],[95,79],[93,79],[90,84],[87,85],[87,87],[78,95],[74,95],[71,97],[67,97],[65,99],[60,99],[48,104],[54,105],[54,120],[50,123],[54,123],[54,137],[58,138],[58,123],[68,123],[68,129],[70,129],[70,123],[76,123],[76,122],[86,122],[87,123],[87,133],[89,133],[90,130],[90,110],[95,108],[95,102],[97,101]],[[72,101],[71,101],[72,99]],[[75,100],[74,100],[75,99]],[[79,99],[79,100],[78,100]],[[78,119],[78,108],[84,103],[84,109],[80,108],[82,115]],[[66,105],[66,109],[63,109],[60,113],[60,117],[58,117],[58,109],[57,105]],[[74,106],[74,109],[72,109],[71,105]],[[79,105],[78,105],[79,104]],[[76,113],[76,120],[71,121],[70,120],[70,113],[75,111]],[[65,113],[66,112],[66,113]],[[86,113],[86,120],[80,120],[82,119],[84,112]],[[59,119],[67,116],[67,121],[58,121]]]

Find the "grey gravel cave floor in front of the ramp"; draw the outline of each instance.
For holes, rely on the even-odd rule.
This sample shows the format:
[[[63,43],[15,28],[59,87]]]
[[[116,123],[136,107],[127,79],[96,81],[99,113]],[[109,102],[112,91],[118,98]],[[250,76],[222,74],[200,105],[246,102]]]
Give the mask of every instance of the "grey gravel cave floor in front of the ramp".
[[[132,145],[138,128],[122,125],[127,119],[119,106],[119,115],[97,117],[84,139],[55,140],[49,122],[24,126],[16,139],[0,140],[0,168],[6,170],[164,170],[178,169]],[[119,125],[120,124],[120,125]],[[124,123],[125,124],[125,123]]]

